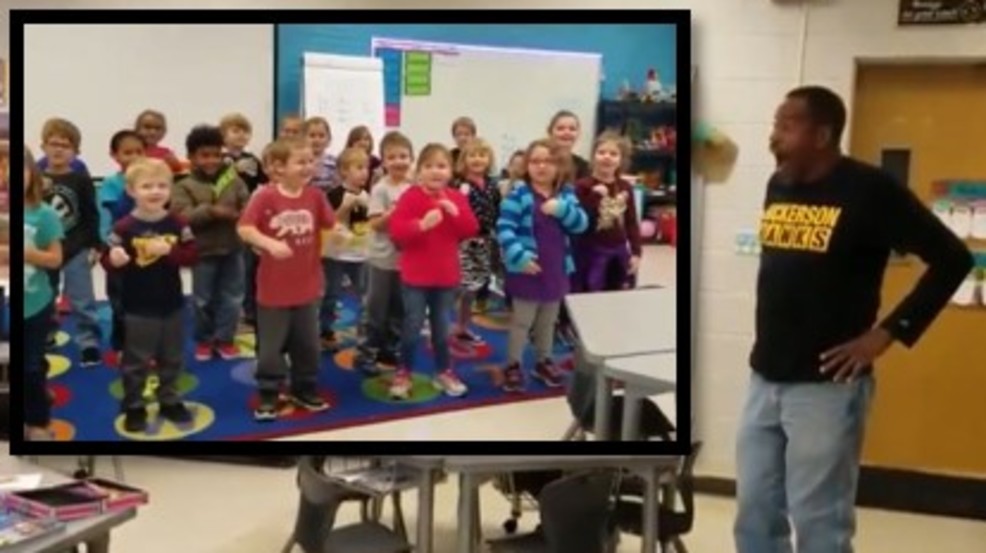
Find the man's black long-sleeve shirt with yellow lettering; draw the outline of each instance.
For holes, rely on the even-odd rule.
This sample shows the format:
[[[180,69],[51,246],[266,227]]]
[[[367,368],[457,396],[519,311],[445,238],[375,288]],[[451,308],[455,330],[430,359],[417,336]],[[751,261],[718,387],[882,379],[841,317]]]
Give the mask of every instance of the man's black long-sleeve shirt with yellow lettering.
[[[818,182],[767,185],[760,225],[753,370],[812,382],[819,356],[870,330],[892,250],[928,268],[880,326],[913,346],[972,270],[959,240],[908,189],[880,169],[843,158]]]

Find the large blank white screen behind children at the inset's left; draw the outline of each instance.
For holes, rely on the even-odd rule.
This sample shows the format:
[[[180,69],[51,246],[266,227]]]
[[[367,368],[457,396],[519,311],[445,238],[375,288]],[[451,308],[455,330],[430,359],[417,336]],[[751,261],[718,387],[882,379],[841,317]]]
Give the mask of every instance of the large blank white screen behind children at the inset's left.
[[[110,137],[148,108],[168,118],[163,144],[179,157],[192,127],[218,125],[230,112],[250,119],[250,147],[262,149],[273,136],[273,26],[24,27],[24,136],[32,147],[46,119],[65,117],[82,131],[93,176],[114,173]]]

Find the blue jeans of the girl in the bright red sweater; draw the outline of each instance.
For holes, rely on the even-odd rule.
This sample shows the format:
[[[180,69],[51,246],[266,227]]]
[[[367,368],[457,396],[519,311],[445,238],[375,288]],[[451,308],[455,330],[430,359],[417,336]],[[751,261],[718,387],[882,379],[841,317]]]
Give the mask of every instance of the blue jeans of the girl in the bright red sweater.
[[[418,288],[404,285],[404,329],[401,333],[401,363],[414,367],[414,354],[421,343],[425,310],[431,323],[431,347],[435,350],[435,368],[452,368],[448,351],[449,313],[455,303],[457,288]]]

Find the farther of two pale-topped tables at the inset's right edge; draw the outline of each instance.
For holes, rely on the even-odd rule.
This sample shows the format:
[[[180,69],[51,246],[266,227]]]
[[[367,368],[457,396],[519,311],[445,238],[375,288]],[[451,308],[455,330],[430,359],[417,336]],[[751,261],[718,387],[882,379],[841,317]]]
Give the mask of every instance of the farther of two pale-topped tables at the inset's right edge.
[[[678,294],[673,287],[571,294],[565,303],[586,358],[594,364],[677,349]],[[596,371],[596,440],[609,439],[612,399],[612,382],[600,369]]]

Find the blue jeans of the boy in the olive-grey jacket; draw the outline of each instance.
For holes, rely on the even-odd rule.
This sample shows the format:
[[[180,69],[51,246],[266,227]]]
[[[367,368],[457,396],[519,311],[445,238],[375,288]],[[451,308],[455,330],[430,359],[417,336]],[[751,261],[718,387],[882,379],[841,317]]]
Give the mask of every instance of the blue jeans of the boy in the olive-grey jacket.
[[[200,258],[192,268],[196,343],[233,343],[243,304],[243,281],[239,250]]]

